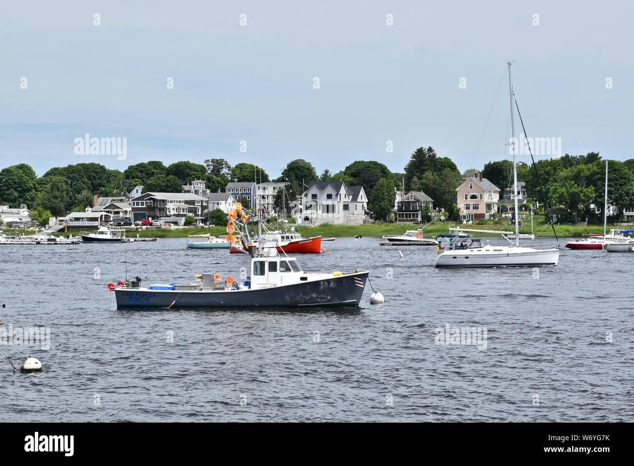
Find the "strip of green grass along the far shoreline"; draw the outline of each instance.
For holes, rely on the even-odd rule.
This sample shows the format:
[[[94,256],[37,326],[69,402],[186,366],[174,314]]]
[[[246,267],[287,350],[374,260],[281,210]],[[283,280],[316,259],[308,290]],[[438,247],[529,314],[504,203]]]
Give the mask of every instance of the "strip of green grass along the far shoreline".
[[[434,223],[425,230],[423,230],[423,236],[437,236],[443,233],[449,233],[449,228],[453,228],[456,226],[455,222],[444,222],[444,223]],[[512,231],[512,226],[510,225],[464,225],[465,228],[474,228],[475,230],[504,230],[504,231]],[[322,226],[299,226],[295,227],[295,230],[299,231],[304,237],[308,236],[324,236],[335,237],[335,238],[344,238],[349,236],[372,236],[372,237],[380,237],[383,235],[402,235],[406,230],[415,230],[417,229],[417,225],[403,225],[403,224],[393,224],[393,223],[375,223],[375,224],[365,224],[365,225],[322,225]],[[616,226],[608,225],[608,230],[610,228],[616,228]],[[621,227],[624,230],[630,228],[628,226]],[[531,227],[530,223],[522,226],[520,231],[522,233],[530,233]],[[5,230],[6,233],[13,233],[15,230]],[[573,237],[573,236],[581,236],[588,234],[601,234],[603,233],[603,225],[555,225],[555,231],[557,231],[557,236],[560,237]],[[547,224],[535,224],[534,232],[538,234],[538,236],[543,238],[552,238],[553,231],[552,228]],[[28,230],[20,230],[20,234],[23,235],[31,235],[33,232]],[[68,236],[72,233],[73,236],[77,236],[79,231],[71,231],[68,233],[59,233],[63,236]],[[202,234],[207,233],[206,228],[179,228],[176,230],[167,230],[162,228],[148,228],[146,230],[130,230],[127,231],[127,236],[129,238],[134,238],[137,235],[139,238],[186,238],[188,235],[193,234]],[[213,236],[224,236],[226,235],[224,226],[216,226],[211,229],[211,234]],[[491,236],[491,233],[474,233],[474,236]]]

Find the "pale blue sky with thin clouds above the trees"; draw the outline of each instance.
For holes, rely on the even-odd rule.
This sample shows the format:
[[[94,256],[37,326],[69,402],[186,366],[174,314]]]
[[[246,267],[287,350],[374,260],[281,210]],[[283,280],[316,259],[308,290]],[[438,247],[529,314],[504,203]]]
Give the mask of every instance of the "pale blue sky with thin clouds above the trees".
[[[429,145],[482,167],[507,157],[508,59],[529,136],[630,159],[633,15],[626,1],[6,2],[0,168],[223,157],[272,176],[296,158],[402,171]],[[85,133],[126,137],[127,159],[75,155]]]

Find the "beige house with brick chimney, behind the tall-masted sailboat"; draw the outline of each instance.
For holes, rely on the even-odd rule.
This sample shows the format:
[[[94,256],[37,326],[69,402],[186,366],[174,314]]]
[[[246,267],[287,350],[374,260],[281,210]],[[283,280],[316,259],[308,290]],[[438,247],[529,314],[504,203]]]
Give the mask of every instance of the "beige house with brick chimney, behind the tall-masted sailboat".
[[[490,219],[498,210],[500,188],[482,178],[482,172],[467,178],[456,188],[456,193],[461,221]]]

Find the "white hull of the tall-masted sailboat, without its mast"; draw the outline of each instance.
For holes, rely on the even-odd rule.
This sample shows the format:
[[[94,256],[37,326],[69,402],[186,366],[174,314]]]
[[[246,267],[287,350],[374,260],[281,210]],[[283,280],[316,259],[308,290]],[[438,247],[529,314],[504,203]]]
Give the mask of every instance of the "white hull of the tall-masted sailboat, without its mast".
[[[497,248],[490,250],[445,250],[436,267],[535,267],[556,266],[559,249]]]

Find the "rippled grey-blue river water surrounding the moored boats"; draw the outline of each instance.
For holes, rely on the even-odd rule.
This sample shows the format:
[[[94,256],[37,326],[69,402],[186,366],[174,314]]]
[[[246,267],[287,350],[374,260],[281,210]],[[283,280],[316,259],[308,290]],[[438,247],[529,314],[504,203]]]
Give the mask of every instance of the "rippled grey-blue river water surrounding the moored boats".
[[[536,275],[337,238],[304,269],[370,269],[384,304],[366,287],[353,310],[117,310],[126,252],[145,283],[248,266],[185,241],[0,247],[4,328],[51,328],[48,351],[3,346],[44,371],[0,359],[0,420],[634,420],[634,254],[564,250]],[[486,349],[436,344],[448,324],[486,328]]]

